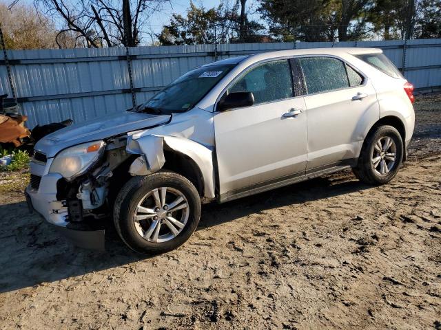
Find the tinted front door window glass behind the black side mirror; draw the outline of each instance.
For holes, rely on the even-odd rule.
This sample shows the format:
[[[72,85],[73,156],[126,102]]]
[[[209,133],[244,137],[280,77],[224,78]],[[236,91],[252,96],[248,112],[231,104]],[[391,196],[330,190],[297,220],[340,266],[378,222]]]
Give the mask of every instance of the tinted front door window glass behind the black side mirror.
[[[251,91],[254,104],[292,98],[291,68],[287,60],[258,65],[240,78],[229,93]]]

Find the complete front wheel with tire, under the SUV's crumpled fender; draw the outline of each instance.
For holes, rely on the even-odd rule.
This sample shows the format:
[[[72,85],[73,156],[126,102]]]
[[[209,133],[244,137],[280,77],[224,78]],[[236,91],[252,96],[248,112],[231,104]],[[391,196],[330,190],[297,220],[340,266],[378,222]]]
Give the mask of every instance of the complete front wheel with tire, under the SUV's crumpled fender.
[[[133,177],[114,206],[121,239],[136,252],[158,254],[189,239],[201,217],[201,199],[193,184],[177,173]]]

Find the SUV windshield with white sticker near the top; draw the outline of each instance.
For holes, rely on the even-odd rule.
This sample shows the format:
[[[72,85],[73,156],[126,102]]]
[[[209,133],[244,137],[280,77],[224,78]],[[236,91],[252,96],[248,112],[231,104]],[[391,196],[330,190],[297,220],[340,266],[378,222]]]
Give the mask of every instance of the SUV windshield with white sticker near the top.
[[[135,111],[179,113],[192,109],[236,65],[198,67],[165,87]]]

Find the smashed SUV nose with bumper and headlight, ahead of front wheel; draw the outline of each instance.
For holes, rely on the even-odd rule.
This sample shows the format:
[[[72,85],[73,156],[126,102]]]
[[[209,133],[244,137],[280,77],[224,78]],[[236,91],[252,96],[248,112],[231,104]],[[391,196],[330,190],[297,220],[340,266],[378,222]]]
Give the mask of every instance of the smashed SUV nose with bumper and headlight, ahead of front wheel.
[[[104,250],[115,192],[130,178],[128,167],[136,158],[125,151],[126,141],[123,135],[81,144],[49,159],[36,151],[25,190],[30,208],[75,245]]]

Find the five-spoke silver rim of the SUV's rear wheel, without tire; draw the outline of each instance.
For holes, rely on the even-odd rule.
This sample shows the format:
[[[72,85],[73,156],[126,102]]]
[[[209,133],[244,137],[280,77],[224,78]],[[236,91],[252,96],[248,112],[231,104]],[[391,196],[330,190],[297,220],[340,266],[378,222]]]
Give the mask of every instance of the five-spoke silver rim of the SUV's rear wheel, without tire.
[[[380,137],[373,147],[371,163],[379,175],[387,175],[395,166],[397,146],[389,136]]]

